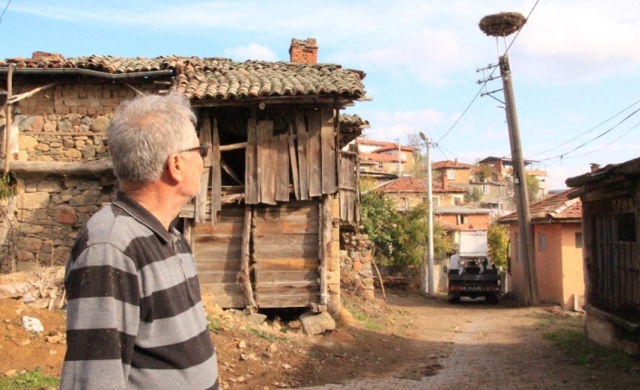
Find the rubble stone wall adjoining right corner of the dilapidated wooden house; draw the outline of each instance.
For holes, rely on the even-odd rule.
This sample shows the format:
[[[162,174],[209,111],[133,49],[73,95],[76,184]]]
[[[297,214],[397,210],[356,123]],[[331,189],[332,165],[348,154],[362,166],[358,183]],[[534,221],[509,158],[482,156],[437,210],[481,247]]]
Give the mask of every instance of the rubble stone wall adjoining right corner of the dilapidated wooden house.
[[[371,250],[373,242],[368,234],[341,233],[340,271],[349,280],[360,283],[364,295],[373,298],[373,264]],[[343,286],[347,288],[346,286]],[[347,288],[348,290],[348,288]]]

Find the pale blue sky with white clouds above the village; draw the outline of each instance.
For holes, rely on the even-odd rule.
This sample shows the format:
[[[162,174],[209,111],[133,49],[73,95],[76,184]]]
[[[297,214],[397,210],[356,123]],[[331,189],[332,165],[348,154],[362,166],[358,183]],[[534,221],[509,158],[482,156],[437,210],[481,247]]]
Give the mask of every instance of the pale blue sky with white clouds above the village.
[[[470,104],[480,90],[476,70],[505,47],[478,23],[533,9],[509,50],[525,157],[541,160],[551,189],[589,163],[640,157],[640,112],[617,125],[640,109],[637,0],[0,0],[0,9],[7,4],[2,58],[43,51],[288,61],[291,38],[314,37],[319,62],[367,73],[373,100],[346,112],[370,121],[369,138],[404,143],[422,131],[438,141],[434,161],[470,163],[510,155],[499,101]],[[500,88],[499,80],[487,85]]]

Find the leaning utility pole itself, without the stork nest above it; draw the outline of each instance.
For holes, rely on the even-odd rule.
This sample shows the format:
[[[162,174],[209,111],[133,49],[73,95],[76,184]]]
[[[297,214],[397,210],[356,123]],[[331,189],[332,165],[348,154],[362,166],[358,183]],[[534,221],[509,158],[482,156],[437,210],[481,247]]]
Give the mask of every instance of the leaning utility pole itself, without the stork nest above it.
[[[507,125],[509,127],[509,144],[511,146],[511,161],[513,162],[513,186],[516,193],[520,245],[522,245],[522,263],[525,281],[528,282],[528,289],[525,290],[525,304],[538,305],[540,303],[538,297],[538,273],[536,271],[536,252],[533,243],[531,215],[528,210],[527,174],[525,173],[524,157],[522,157],[516,100],[513,94],[513,85],[511,84],[509,54],[504,54],[499,58],[499,68],[500,76],[502,76],[502,88],[504,89]]]

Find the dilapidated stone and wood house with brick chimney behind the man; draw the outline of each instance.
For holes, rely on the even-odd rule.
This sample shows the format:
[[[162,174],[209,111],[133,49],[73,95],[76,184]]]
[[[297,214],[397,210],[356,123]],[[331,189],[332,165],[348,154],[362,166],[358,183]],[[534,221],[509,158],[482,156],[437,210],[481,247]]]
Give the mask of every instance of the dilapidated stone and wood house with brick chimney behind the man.
[[[63,264],[78,230],[111,202],[107,129],[145,93],[191,100],[210,144],[202,191],[176,221],[192,245],[203,297],[223,308],[339,305],[341,229],[359,224],[357,154],[364,72],[315,63],[315,39],[291,62],[166,56],[0,61],[5,172],[17,195],[0,226],[3,271]],[[366,256],[364,256],[366,261]]]

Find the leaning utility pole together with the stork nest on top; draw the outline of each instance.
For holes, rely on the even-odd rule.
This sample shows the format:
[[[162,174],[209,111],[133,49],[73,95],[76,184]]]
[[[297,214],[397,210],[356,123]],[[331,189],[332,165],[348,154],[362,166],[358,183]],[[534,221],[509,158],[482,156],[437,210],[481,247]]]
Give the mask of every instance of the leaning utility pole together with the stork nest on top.
[[[490,36],[506,37],[519,31],[527,23],[527,19],[519,13],[490,14],[480,20],[480,30]],[[511,67],[509,65],[509,53],[499,57],[500,76],[504,91],[505,112],[509,127],[509,144],[511,147],[511,161],[513,163],[513,185],[516,196],[516,209],[518,211],[518,226],[520,234],[520,251],[525,277],[525,303],[538,305],[538,273],[536,271],[535,248],[533,242],[533,230],[531,228],[531,215],[528,209],[527,176],[525,173],[525,161],[522,157],[522,145],[520,144],[520,130],[516,100],[511,84]],[[489,78],[487,81],[493,80]],[[479,81],[480,82],[480,81]],[[486,81],[484,81],[486,82]],[[490,95],[492,92],[485,94]],[[494,98],[495,99],[495,98]]]

